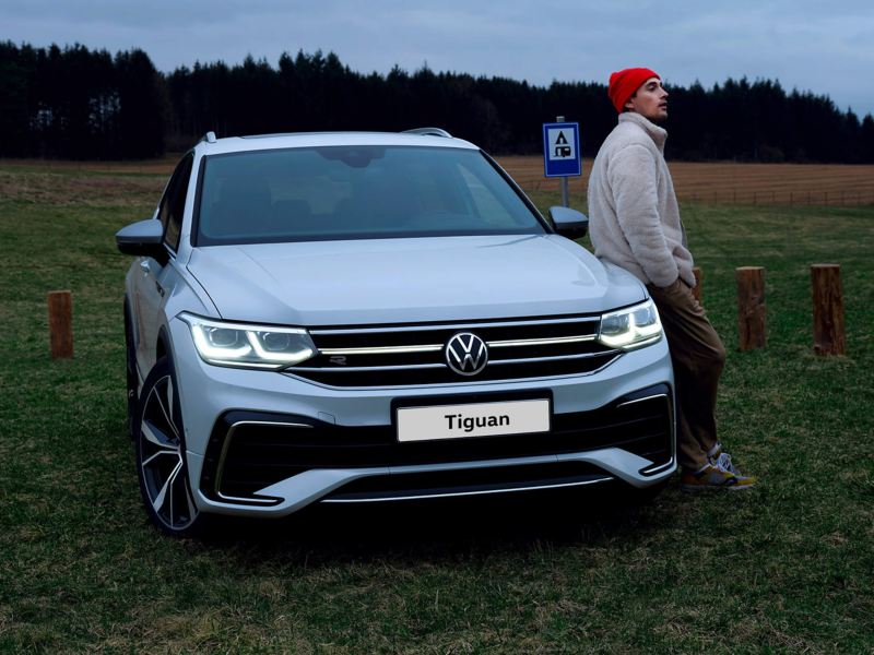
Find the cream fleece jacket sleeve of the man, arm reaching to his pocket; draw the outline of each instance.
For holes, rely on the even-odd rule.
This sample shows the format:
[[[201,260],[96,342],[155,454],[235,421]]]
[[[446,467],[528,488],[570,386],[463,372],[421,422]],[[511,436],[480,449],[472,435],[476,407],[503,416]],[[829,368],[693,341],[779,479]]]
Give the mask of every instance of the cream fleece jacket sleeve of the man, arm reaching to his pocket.
[[[668,248],[661,217],[657,162],[643,145],[627,145],[613,156],[607,169],[616,217],[637,263],[659,287],[671,286],[680,276]]]

